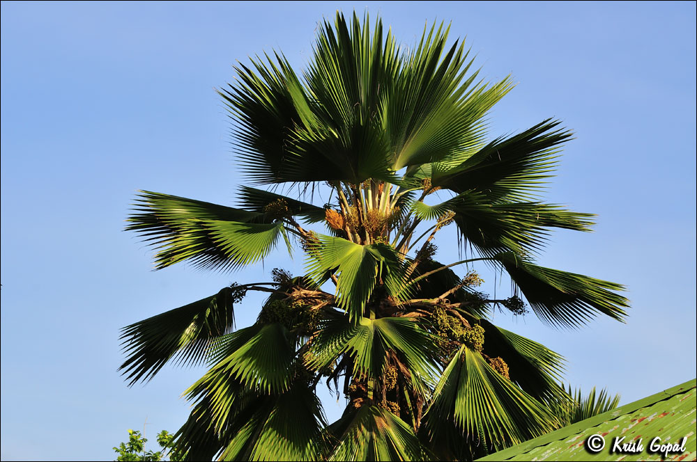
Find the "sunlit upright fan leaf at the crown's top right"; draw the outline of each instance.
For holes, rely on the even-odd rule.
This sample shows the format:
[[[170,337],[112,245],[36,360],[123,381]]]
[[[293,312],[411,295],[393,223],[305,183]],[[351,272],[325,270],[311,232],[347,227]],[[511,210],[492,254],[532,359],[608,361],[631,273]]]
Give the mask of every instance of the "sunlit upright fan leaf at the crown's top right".
[[[395,145],[393,168],[452,159],[482,141],[482,117],[512,88],[465,79],[473,61],[464,43],[446,47],[450,27],[424,29],[385,98],[385,130]],[[388,91],[389,91],[388,90]]]

